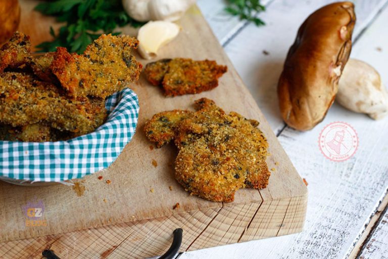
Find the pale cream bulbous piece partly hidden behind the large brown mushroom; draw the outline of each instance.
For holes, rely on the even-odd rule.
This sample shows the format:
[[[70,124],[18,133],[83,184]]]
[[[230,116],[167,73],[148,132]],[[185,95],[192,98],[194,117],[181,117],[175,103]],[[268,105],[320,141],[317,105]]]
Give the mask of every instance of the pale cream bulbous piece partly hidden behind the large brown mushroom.
[[[388,91],[379,73],[369,64],[349,59],[339,82],[335,99],[345,108],[366,113],[372,119],[388,114]]]

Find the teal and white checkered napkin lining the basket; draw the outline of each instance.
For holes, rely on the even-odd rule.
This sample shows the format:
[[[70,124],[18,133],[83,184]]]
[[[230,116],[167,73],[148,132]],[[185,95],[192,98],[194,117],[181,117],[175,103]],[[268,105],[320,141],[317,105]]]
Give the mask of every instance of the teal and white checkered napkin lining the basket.
[[[124,89],[106,101],[107,121],[94,132],[58,142],[0,141],[0,177],[32,182],[82,178],[107,168],[135,134],[139,102]]]

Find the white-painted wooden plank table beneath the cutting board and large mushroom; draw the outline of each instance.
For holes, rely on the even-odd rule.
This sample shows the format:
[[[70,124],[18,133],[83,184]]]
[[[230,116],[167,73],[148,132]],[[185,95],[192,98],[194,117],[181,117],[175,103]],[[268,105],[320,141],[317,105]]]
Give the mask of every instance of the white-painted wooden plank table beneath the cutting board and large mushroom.
[[[223,0],[198,4],[226,53],[266,115],[280,143],[308,182],[305,230],[300,234],[183,253],[194,258],[388,258],[388,118],[373,121],[334,103],[312,131],[286,127],[276,85],[288,48],[303,20],[328,0],[265,1],[266,26],[240,22]],[[356,0],[351,57],[374,66],[388,85],[388,0]],[[264,55],[263,51],[269,53]],[[326,159],[318,135],[333,121],[351,124],[359,137],[356,154],[344,162]]]

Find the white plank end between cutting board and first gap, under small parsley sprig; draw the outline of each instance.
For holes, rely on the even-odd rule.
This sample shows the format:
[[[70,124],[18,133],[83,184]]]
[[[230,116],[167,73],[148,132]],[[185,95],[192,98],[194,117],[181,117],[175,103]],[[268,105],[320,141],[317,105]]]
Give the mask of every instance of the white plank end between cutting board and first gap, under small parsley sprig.
[[[269,2],[271,0],[261,1],[263,5],[267,5]],[[221,45],[224,45],[228,39],[246,25],[245,21],[240,21],[238,17],[224,11],[225,0],[198,0],[197,4]]]

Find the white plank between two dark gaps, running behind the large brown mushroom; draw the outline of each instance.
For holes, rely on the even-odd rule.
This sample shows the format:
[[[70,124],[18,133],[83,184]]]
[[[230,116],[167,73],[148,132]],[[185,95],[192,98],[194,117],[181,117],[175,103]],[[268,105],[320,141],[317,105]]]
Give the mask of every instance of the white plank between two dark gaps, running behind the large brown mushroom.
[[[278,108],[276,87],[289,47],[298,28],[314,10],[333,0],[276,0],[261,15],[267,25],[248,25],[225,47],[237,72],[251,91],[269,124],[277,133],[284,126]],[[356,37],[386,0],[355,1]],[[264,55],[267,51],[269,55]]]

